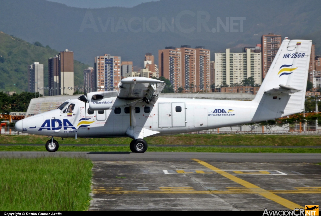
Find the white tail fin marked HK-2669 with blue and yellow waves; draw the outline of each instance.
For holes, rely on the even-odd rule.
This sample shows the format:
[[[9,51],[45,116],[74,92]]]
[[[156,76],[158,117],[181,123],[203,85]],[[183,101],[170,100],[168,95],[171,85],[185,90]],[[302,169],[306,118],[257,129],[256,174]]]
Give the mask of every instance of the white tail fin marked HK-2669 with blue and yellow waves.
[[[254,99],[259,105],[253,121],[275,119],[303,111],[311,46],[312,40],[282,41]],[[262,53],[262,58],[266,58],[265,53]]]

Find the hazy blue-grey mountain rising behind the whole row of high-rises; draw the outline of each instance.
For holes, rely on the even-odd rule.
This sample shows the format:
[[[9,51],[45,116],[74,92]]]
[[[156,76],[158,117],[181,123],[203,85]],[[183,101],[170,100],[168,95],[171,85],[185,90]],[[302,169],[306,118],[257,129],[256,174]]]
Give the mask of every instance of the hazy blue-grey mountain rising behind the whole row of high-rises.
[[[240,51],[243,46],[260,43],[261,35],[269,32],[299,39],[320,30],[320,5],[319,0],[160,0],[133,8],[85,9],[45,0],[1,0],[0,31],[31,43],[40,41],[57,50],[73,50],[75,59],[90,65],[94,56],[108,53],[142,66],[146,52],[152,52],[158,62],[158,49],[165,46],[205,46],[213,53],[225,48]],[[184,15],[186,12],[190,15]],[[200,25],[197,30],[197,13],[201,19],[209,15],[208,31]],[[230,28],[225,32],[221,27],[220,32],[213,33],[217,17],[224,24],[229,18],[229,25],[231,17],[245,18],[244,32],[230,32]],[[164,28],[153,32],[158,30],[157,19],[164,21]],[[174,31],[169,30],[165,20],[169,26],[174,24]],[[133,21],[132,29],[142,31],[130,31],[129,21]],[[195,30],[184,33],[177,22],[182,28]],[[240,31],[240,22],[235,22],[238,25],[233,28]],[[82,23],[92,24],[92,28],[82,29]]]

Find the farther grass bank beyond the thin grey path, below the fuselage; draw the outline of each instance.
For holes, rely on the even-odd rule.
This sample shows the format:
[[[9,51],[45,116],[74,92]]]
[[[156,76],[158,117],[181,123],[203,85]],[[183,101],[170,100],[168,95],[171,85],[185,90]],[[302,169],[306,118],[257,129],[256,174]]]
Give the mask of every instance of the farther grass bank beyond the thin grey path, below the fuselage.
[[[318,135],[246,135],[185,134],[144,138],[153,145],[228,145],[228,146],[319,146]],[[49,138],[40,135],[0,135],[2,144],[45,144]],[[59,144],[129,144],[130,138],[56,138]]]

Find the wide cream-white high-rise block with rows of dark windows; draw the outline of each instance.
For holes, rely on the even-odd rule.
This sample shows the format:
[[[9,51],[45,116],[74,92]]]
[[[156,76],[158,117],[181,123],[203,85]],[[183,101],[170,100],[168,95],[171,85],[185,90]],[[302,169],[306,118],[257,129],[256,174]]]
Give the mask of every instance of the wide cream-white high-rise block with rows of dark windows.
[[[250,76],[261,85],[261,52],[259,47],[245,48],[243,53],[215,53],[215,86],[240,84]]]

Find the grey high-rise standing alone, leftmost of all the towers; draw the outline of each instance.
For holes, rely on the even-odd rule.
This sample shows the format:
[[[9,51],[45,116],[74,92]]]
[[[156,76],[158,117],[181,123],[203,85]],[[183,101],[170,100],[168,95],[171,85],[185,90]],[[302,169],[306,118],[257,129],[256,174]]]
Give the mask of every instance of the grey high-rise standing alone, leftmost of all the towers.
[[[28,65],[28,92],[39,92],[44,95],[43,91],[43,64],[34,62]]]

